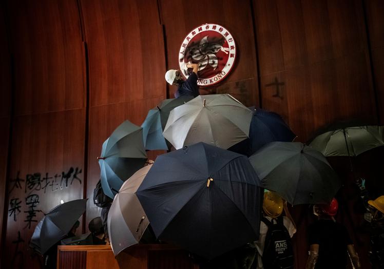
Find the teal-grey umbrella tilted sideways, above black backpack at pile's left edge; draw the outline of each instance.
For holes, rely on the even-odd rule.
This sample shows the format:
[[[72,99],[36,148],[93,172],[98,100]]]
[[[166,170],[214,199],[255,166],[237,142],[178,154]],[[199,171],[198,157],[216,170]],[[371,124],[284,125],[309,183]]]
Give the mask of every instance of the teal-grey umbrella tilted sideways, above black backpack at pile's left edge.
[[[147,160],[143,128],[129,121],[123,122],[103,143],[98,159],[103,191],[113,199],[123,182]]]

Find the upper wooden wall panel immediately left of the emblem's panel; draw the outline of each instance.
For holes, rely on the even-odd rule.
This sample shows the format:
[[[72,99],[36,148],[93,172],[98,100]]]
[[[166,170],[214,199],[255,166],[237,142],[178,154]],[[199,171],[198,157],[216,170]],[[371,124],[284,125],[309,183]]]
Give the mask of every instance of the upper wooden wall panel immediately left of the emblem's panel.
[[[165,96],[157,2],[81,4],[89,48],[90,106]]]

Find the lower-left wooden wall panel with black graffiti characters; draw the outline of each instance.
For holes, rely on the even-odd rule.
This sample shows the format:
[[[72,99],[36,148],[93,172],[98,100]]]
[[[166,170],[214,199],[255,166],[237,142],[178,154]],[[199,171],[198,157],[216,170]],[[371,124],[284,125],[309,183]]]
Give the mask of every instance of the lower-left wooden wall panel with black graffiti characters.
[[[44,216],[43,213],[48,213],[61,200],[67,202],[82,198],[84,122],[85,109],[39,113],[13,119],[10,178],[7,179],[7,207],[10,211],[6,234],[6,268],[16,267],[22,261],[25,266],[30,263],[30,268],[39,268],[39,256],[32,256],[33,252],[28,247],[35,225]],[[28,176],[35,173],[40,173],[40,176]],[[38,212],[31,212],[31,205],[28,204],[31,195],[38,196],[34,196],[34,199],[37,198],[39,203],[32,208]],[[15,209],[15,205],[20,207]],[[35,216],[30,218],[32,222],[28,225],[28,216],[33,214]],[[18,244],[20,254],[16,252],[15,243],[18,232],[24,240]]]

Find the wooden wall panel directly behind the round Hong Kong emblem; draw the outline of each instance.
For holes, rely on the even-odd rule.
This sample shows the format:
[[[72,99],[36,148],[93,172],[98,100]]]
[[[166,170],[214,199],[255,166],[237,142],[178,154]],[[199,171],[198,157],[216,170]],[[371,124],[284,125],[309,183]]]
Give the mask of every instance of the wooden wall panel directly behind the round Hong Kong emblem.
[[[249,2],[198,0],[191,5],[185,1],[167,0],[160,1],[160,3],[161,18],[166,35],[168,68],[179,69],[178,53],[183,39],[190,30],[205,23],[222,25],[234,36],[239,54],[235,68],[225,81],[217,86],[206,87],[206,89],[218,93],[224,93],[223,89],[225,89],[225,93],[236,95],[239,93],[239,85],[236,85],[236,82],[249,80],[249,83],[244,83],[244,91],[239,99],[248,106],[258,105],[256,51]],[[176,90],[175,86],[170,86],[169,97],[173,97]]]

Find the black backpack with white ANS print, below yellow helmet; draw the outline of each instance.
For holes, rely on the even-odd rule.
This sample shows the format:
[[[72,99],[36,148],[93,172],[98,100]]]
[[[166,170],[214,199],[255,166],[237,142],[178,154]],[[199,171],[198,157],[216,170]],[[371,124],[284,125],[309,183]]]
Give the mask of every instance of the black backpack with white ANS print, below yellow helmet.
[[[294,257],[290,234],[285,228],[283,218],[261,219],[268,226],[262,256],[265,269],[291,269]],[[276,222],[276,223],[275,223]]]

